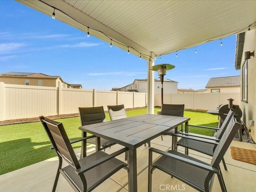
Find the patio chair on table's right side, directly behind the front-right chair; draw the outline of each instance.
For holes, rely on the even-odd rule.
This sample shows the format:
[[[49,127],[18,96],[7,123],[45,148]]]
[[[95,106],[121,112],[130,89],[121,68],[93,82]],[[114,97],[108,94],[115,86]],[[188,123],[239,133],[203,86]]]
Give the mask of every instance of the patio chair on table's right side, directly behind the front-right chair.
[[[208,137],[203,135],[196,135],[196,134],[186,134],[179,132],[178,134],[173,134],[172,139],[176,139],[175,137],[181,137],[180,140],[176,143],[176,149],[178,146],[182,146],[188,149],[192,149],[198,152],[201,152],[203,154],[213,156],[214,150],[217,146],[217,143],[220,141],[220,138],[222,138],[224,131],[226,130],[228,123],[230,122],[231,118],[234,116],[234,112],[232,109],[228,112],[226,119],[224,120],[222,126],[220,129],[218,128],[212,128],[212,127],[204,127],[204,126],[196,126],[196,125],[189,125],[189,126],[196,126],[200,128],[208,128],[208,129],[215,129],[218,130],[217,136],[215,137]],[[215,142],[212,142],[215,141]],[[187,150],[185,150],[186,152]],[[224,158],[222,159],[223,166],[225,170],[227,170],[226,163],[224,161]]]

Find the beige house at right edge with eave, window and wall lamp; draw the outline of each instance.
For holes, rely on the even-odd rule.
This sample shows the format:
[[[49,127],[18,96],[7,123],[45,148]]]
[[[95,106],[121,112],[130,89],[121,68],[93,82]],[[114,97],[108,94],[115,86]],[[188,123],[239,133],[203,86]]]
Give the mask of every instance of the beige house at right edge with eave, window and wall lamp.
[[[256,140],[254,121],[256,120],[256,30],[251,29],[236,36],[235,68],[241,70],[242,120],[251,130],[251,137]],[[252,121],[250,121],[252,120]],[[249,123],[250,121],[250,123]]]

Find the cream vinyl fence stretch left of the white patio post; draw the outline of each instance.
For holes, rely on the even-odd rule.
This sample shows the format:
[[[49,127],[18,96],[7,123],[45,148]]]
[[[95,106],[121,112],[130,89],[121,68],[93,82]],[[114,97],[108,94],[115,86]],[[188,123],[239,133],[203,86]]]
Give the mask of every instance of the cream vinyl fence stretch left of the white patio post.
[[[38,116],[78,113],[78,107],[124,104],[144,107],[146,93],[96,91],[4,84],[0,82],[0,121]]]

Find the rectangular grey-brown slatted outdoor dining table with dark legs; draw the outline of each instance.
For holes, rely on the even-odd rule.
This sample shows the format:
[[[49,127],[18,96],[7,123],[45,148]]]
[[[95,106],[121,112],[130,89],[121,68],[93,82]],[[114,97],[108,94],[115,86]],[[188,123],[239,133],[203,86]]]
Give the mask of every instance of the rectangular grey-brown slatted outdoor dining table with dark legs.
[[[130,192],[137,191],[137,154],[136,149],[146,142],[160,136],[162,133],[175,128],[183,123],[186,125],[190,118],[144,114],[80,126],[83,133],[90,133],[96,137],[96,151],[100,150],[100,139],[104,138],[128,148],[128,187]],[[85,136],[85,135],[84,135]],[[172,141],[172,148],[176,143]],[[82,143],[81,156],[86,156],[86,142]]]

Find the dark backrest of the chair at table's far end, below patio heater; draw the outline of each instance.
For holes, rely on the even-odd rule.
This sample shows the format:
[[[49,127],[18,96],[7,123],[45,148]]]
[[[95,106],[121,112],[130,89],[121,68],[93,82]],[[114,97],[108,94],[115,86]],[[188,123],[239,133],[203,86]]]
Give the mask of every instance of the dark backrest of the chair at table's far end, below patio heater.
[[[162,104],[161,115],[184,116],[184,104]]]

